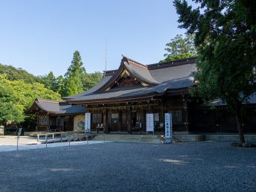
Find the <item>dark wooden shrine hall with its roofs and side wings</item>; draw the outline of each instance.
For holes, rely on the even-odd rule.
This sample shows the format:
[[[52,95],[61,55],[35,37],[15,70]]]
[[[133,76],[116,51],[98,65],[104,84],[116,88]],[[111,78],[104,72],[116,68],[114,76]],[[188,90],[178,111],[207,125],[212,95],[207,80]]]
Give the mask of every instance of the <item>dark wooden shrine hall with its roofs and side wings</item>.
[[[41,126],[40,117],[45,115],[48,128],[53,117],[62,117],[65,125],[69,124],[68,116],[74,119],[73,129],[78,129],[77,124],[84,124],[81,122],[85,119],[84,113],[90,112],[92,131],[144,133],[147,131],[146,115],[151,113],[154,131],[164,132],[164,113],[170,112],[176,132],[237,132],[236,121],[225,104],[191,99],[188,89],[196,86],[193,81],[195,72],[196,57],[144,65],[123,56],[119,68],[104,71],[102,80],[92,89],[63,97],[63,103],[71,111],[49,112],[51,102],[41,103],[40,107],[42,100],[37,100],[28,112],[38,115],[38,127]],[[59,102],[60,109],[61,104]],[[48,109],[42,105],[47,105]],[[57,108],[57,103],[52,105]],[[246,103],[241,112],[245,132],[256,132],[255,106],[256,96],[252,95],[250,103]],[[57,123],[54,121],[54,124]]]

